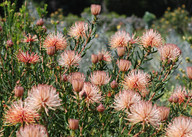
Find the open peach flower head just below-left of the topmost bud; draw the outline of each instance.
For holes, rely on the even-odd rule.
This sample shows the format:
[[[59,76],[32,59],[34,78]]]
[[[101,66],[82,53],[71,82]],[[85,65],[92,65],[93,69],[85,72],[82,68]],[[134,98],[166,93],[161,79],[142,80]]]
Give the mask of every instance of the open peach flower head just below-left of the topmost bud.
[[[69,35],[75,39],[86,37],[86,32],[88,31],[88,24],[83,21],[77,21],[70,28]]]

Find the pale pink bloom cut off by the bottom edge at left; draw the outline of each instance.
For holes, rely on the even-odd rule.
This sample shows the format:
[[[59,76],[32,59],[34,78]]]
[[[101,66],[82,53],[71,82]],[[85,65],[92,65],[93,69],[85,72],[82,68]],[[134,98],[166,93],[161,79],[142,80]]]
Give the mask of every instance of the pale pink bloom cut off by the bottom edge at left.
[[[25,125],[16,133],[17,137],[48,137],[47,130],[42,125]]]

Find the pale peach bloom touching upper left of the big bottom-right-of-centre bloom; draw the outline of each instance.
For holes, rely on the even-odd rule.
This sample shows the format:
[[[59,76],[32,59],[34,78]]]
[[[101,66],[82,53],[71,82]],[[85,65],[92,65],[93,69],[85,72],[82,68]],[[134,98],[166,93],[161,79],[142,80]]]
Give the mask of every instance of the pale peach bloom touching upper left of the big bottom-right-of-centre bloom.
[[[131,90],[119,92],[114,99],[114,108],[118,111],[129,109],[131,105],[141,100],[139,93]]]

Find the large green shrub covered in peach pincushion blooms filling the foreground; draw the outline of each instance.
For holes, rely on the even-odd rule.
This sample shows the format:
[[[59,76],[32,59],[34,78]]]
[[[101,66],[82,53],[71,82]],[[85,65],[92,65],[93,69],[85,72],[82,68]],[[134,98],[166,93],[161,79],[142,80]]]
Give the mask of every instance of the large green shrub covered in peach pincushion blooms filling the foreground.
[[[1,6],[0,135],[191,136],[191,85],[175,87],[166,103],[160,100],[181,50],[159,32],[114,33],[111,51],[94,51],[82,73],[79,64],[95,38],[100,5],[91,6],[91,20],[74,22],[64,33],[57,23],[54,32],[45,31],[46,6],[35,23],[25,6],[19,13],[14,3]],[[150,72],[145,64],[156,53],[159,67]],[[190,68],[187,74],[190,83]]]

